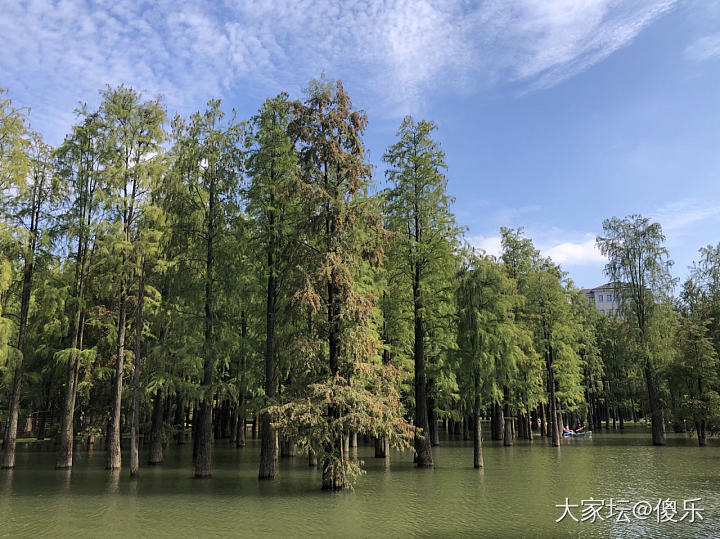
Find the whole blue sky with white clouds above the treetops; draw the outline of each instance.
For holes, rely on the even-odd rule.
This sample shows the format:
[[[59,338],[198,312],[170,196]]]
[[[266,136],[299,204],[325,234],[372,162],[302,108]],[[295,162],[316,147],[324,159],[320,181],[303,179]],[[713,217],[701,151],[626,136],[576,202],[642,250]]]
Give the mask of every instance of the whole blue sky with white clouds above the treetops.
[[[457,220],[491,253],[523,226],[595,286],[605,218],[658,220],[681,278],[720,241],[717,0],[0,5],[0,87],[51,143],[106,83],[249,117],[324,72],[367,111],[378,179],[404,114],[438,124]]]

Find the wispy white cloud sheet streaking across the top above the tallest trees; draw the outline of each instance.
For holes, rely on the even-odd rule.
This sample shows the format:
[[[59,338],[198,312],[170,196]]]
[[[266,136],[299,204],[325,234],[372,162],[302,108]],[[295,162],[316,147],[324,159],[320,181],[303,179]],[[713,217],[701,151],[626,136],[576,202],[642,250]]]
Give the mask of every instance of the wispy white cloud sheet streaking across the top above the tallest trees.
[[[630,43],[675,2],[8,2],[0,79],[51,123],[106,83],[162,93],[182,110],[234,91],[299,89],[321,71],[404,113],[429,92],[557,84]]]

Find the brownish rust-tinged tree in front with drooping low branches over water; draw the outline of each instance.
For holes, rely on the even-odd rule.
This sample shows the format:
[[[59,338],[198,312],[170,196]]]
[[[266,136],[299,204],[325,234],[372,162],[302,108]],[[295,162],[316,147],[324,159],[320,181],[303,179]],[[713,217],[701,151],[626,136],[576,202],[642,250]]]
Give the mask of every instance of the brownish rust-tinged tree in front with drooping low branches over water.
[[[289,126],[298,144],[299,196],[308,217],[298,240],[304,262],[297,299],[303,308],[324,315],[324,323],[319,317],[310,320],[316,320],[324,341],[317,357],[325,361],[316,382],[309,384],[307,399],[293,400],[279,411],[284,429],[317,455],[326,490],[351,486],[359,471],[344,455],[349,431],[386,436],[397,445],[409,428],[399,399],[389,393],[392,384],[382,382],[392,379],[392,369],[376,364],[371,283],[384,232],[367,196],[366,122],[363,112],[353,110],[342,83],[320,80],[311,81]],[[303,406],[307,412],[293,416]]]

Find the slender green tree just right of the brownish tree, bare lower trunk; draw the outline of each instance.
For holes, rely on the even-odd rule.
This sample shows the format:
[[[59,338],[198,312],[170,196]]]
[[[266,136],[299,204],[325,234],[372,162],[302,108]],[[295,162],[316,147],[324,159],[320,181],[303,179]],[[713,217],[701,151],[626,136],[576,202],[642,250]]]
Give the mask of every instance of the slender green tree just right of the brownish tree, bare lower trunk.
[[[458,235],[445,191],[445,154],[432,138],[435,129],[432,122],[406,117],[397,132],[398,142],[383,156],[390,182],[385,192],[386,221],[395,233],[394,249],[404,265],[404,279],[398,286],[412,290],[415,424],[421,429],[415,451],[421,468],[433,466],[426,376],[428,311],[438,308],[432,305],[434,299],[452,301],[451,295],[437,293],[445,287],[448,270],[455,267]]]

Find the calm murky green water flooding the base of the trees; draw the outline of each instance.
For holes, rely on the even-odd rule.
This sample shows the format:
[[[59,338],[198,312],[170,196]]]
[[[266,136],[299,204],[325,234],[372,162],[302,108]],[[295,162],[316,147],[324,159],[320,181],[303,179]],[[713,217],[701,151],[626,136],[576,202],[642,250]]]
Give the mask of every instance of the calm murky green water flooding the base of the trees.
[[[720,536],[720,446],[670,435],[649,445],[648,432],[598,433],[560,448],[536,438],[504,448],[485,444],[485,470],[472,468],[471,442],[435,448],[437,467],[416,470],[410,453],[390,461],[358,454],[367,473],[355,491],[326,493],[307,458],[281,459],[274,482],[256,479],[259,446],[218,443],[210,480],[194,480],[191,447],[170,446],[161,467],[103,470],[103,452],[78,452],[72,473],[53,470],[54,453],[18,453],[0,471],[0,536],[75,537],[558,537]],[[127,456],[123,455],[123,463]],[[142,461],[141,461],[142,462]],[[657,523],[555,523],[565,498],[631,502],[702,498],[705,520]],[[580,518],[580,511],[573,509]],[[605,514],[603,511],[601,514]],[[682,513],[682,511],[681,511]]]

